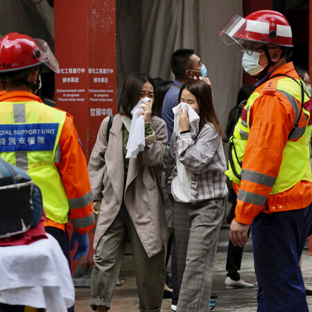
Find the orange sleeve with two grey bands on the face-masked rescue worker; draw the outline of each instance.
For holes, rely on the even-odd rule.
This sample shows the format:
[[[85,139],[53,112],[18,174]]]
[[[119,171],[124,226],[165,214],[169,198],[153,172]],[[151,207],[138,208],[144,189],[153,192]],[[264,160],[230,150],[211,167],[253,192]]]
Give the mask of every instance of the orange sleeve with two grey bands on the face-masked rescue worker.
[[[235,220],[251,224],[266,205],[279,174],[295,111],[279,92],[264,92],[250,108],[248,136]]]

